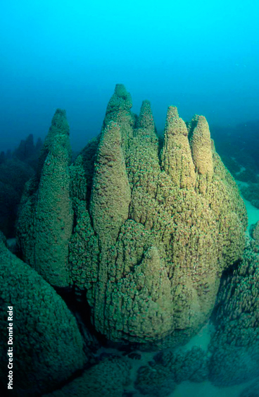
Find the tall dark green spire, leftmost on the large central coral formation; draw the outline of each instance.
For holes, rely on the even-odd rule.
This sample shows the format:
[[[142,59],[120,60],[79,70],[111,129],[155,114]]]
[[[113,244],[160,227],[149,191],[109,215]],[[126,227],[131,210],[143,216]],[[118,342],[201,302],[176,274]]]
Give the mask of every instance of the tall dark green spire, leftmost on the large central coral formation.
[[[18,219],[23,259],[58,287],[69,284],[68,240],[73,214],[68,134],[65,111],[58,109],[42,147],[37,176],[27,183]]]

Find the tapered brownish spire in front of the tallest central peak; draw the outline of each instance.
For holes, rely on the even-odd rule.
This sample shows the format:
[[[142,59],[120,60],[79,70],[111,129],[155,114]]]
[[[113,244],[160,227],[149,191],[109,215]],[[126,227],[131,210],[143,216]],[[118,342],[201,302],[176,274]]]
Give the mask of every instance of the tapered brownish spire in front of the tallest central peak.
[[[103,130],[94,167],[89,213],[103,245],[115,242],[127,220],[130,184],[121,147],[120,126],[111,121]]]

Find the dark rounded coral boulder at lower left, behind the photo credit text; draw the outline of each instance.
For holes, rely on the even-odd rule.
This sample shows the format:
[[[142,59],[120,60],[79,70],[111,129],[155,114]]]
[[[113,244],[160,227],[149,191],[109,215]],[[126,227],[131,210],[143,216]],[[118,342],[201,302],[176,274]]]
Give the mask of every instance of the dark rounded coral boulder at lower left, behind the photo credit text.
[[[19,396],[57,387],[87,362],[75,317],[0,236],[0,377],[6,387],[8,306],[13,306],[13,385]],[[11,345],[9,345],[11,346]],[[23,394],[24,391],[24,394]]]

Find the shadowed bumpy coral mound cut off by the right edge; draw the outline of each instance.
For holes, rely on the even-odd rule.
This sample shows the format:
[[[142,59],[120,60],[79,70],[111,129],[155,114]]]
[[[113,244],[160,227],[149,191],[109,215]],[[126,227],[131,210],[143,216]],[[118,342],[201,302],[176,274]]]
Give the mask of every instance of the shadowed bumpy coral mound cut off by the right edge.
[[[225,276],[210,341],[210,381],[230,386],[259,376],[259,254],[248,241],[244,260]],[[224,362],[224,365],[222,365]]]

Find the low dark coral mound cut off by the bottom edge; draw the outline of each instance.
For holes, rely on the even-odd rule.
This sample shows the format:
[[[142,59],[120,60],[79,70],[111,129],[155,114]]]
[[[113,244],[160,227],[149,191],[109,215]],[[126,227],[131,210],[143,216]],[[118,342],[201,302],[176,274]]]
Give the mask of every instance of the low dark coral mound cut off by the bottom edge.
[[[44,397],[122,397],[129,382],[130,365],[121,358],[106,358],[81,377]]]

